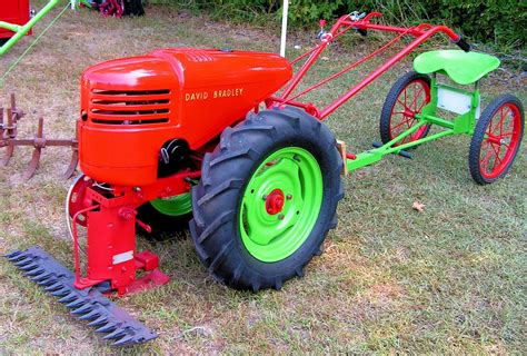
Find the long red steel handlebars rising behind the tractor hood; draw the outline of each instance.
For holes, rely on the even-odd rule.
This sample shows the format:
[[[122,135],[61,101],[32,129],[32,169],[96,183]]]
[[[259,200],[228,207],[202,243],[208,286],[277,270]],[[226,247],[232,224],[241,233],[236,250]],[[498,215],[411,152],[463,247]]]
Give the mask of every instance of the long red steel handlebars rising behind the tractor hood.
[[[350,14],[342,16],[337,20],[337,22],[331,27],[331,29],[322,34],[320,43],[315,47],[312,50],[301,55],[300,57],[296,58],[295,60],[291,61],[291,63],[296,63],[299,60],[306,58],[309,56],[309,58],[306,60],[306,62],[302,65],[302,67],[299,69],[299,71],[295,75],[292,80],[289,82],[289,85],[286,87],[284,90],[282,95],[280,97],[272,97],[266,100],[266,106],[269,108],[274,105],[290,105],[295,107],[299,107],[305,109],[307,112],[310,115],[315,116],[319,120],[324,120],[326,117],[328,117],[331,112],[337,110],[340,106],[342,106],[346,101],[348,101],[350,98],[352,98],[355,95],[357,95],[360,90],[362,90],[366,86],[368,86],[371,81],[377,79],[380,75],[382,75],[385,71],[387,71],[391,66],[397,63],[399,60],[401,60],[404,57],[406,57],[408,53],[410,53],[412,50],[415,50],[420,43],[422,43],[425,40],[430,38],[431,36],[436,34],[437,32],[443,32],[447,34],[454,42],[457,42],[461,39],[461,37],[457,33],[455,33],[451,29],[445,26],[431,26],[429,23],[421,23],[417,27],[410,27],[410,28],[401,28],[401,27],[392,27],[392,26],[385,26],[385,24],[376,24],[376,23],[370,23],[369,20],[374,17],[380,17],[380,12],[371,12],[368,16],[366,16],[364,19],[354,21],[351,19]],[[309,87],[308,89],[304,90],[299,95],[295,97],[290,97],[292,91],[296,89],[300,80],[306,76],[306,73],[309,71],[309,69],[312,67],[312,65],[317,61],[317,59],[320,57],[320,55],[324,52],[326,47],[335,41],[337,38],[349,31],[350,29],[356,29],[356,30],[379,30],[379,31],[387,31],[387,32],[396,32],[399,33],[396,38],[394,38],[390,42],[388,42],[386,46],[382,48],[376,50],[371,55],[360,59],[359,61],[352,63],[351,66],[342,69],[341,71],[337,72],[336,75],[316,83],[312,87]],[[344,75],[348,70],[357,67],[358,65],[365,62],[366,60],[372,58],[374,56],[385,51],[388,49],[390,46],[399,41],[402,37],[405,36],[414,36],[416,39],[406,46],[402,50],[400,50],[397,55],[391,57],[388,61],[386,61],[382,66],[377,68],[375,71],[372,71],[368,77],[362,79],[359,83],[357,83],[355,87],[349,89],[347,92],[345,92],[340,98],[331,102],[328,107],[325,109],[320,110],[312,103],[302,103],[295,101],[298,97],[320,87],[321,85]]]

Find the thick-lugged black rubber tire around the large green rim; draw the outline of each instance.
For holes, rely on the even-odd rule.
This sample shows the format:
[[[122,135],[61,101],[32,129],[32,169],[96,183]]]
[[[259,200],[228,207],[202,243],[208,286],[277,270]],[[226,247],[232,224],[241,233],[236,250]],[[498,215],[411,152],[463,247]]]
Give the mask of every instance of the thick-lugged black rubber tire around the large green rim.
[[[299,147],[317,160],[324,181],[320,212],[307,239],[290,256],[272,263],[255,258],[239,231],[240,204],[258,167],[274,152]],[[236,288],[280,289],[304,276],[305,266],[321,254],[329,229],[337,226],[337,204],[344,197],[342,159],[330,130],[304,110],[264,110],[221,134],[213,152],[205,156],[201,180],[192,189],[190,233],[199,259],[219,281]]]

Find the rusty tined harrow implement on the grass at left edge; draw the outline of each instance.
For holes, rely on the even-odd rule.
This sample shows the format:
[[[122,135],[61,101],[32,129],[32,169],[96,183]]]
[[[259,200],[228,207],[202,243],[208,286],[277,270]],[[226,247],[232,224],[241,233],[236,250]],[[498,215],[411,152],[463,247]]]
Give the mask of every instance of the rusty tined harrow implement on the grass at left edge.
[[[26,113],[17,107],[14,93],[11,93],[11,107],[4,110],[0,107],[0,148],[6,147],[6,154],[0,160],[0,166],[8,166],[9,161],[13,157],[14,148],[20,146],[33,147],[31,160],[29,161],[28,168],[23,172],[23,179],[30,179],[40,165],[40,156],[42,149],[46,147],[70,147],[71,159],[68,168],[63,172],[62,177],[68,179],[73,176],[77,164],[79,161],[79,155],[77,150],[77,139],[47,139],[43,134],[43,118],[39,118],[39,123],[34,138],[31,139],[19,139],[18,136],[18,123]]]

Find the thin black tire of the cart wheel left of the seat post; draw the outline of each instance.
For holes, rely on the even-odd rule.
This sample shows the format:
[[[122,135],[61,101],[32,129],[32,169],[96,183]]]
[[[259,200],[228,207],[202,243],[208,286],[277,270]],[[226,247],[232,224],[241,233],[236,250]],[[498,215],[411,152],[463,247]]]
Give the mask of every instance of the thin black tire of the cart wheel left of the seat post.
[[[388,144],[395,137],[392,137],[391,132],[391,120],[392,120],[392,110],[394,107],[397,103],[397,99],[401,95],[402,90],[407,88],[411,82],[415,81],[421,81],[425,82],[428,86],[428,92],[430,90],[430,77],[426,75],[420,75],[415,71],[410,71],[402,77],[400,77],[395,85],[391,87],[390,91],[388,92],[385,103],[382,106],[382,110],[380,113],[380,120],[379,120],[379,132],[380,132],[380,139],[382,144]],[[421,135],[419,135],[418,138],[424,138],[428,135],[428,131],[430,131],[431,125],[425,126],[425,130],[422,131]],[[406,142],[406,141],[405,141]],[[397,146],[398,144],[394,145]]]

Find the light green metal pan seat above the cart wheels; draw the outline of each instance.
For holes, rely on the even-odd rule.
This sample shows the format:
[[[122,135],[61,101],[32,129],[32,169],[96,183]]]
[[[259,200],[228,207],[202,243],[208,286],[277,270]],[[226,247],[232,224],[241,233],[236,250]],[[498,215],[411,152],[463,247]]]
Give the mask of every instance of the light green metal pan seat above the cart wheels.
[[[441,72],[461,86],[481,79],[498,67],[499,59],[494,56],[461,50],[429,51],[414,60],[414,69],[417,72]]]

